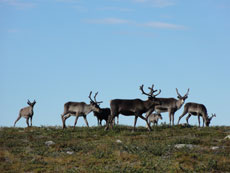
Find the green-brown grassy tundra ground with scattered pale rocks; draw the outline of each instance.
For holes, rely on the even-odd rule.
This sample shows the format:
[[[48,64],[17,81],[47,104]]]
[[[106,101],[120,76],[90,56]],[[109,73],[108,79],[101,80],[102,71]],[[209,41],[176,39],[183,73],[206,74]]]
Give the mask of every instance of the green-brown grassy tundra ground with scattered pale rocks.
[[[230,172],[227,135],[230,127],[2,127],[0,172]]]

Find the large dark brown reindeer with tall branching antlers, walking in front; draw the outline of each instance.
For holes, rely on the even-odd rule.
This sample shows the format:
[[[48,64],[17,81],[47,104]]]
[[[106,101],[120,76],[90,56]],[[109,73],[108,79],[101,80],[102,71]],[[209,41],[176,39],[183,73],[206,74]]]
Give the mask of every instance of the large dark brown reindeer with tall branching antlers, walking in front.
[[[153,112],[154,107],[160,104],[160,101],[157,101],[155,97],[160,94],[161,90],[159,90],[158,94],[154,95],[154,92],[157,91],[153,89],[154,85],[152,85],[152,88],[149,87],[149,94],[144,92],[143,87],[144,85],[140,86],[140,90],[142,91],[142,94],[148,96],[148,100],[146,101],[143,101],[141,99],[114,99],[110,101],[111,116],[105,130],[107,130],[109,128],[109,125],[112,124],[114,117],[122,114],[125,116],[135,116],[133,131],[135,131],[138,117],[146,121],[148,129],[149,131],[151,131],[151,127],[147,120],[148,118],[143,117],[142,114],[147,111]]]

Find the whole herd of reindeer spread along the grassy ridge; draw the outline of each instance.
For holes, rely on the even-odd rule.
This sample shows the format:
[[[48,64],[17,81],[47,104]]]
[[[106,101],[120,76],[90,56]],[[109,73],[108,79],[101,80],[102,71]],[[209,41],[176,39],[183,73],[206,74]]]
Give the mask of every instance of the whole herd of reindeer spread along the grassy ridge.
[[[93,112],[94,116],[97,117],[98,125],[102,125],[102,121],[106,121],[105,130],[108,130],[109,127],[113,127],[115,124],[115,118],[117,117],[117,124],[119,123],[119,114],[124,116],[135,116],[134,118],[134,127],[133,131],[136,128],[136,122],[138,117],[146,121],[146,126],[149,131],[151,131],[151,123],[157,125],[158,120],[162,119],[161,113],[168,112],[169,114],[169,122],[170,125],[174,125],[174,114],[177,110],[179,110],[184,104],[185,100],[188,98],[189,89],[184,96],[181,96],[178,89],[176,88],[177,98],[159,98],[157,97],[161,90],[154,90],[154,85],[152,87],[148,87],[150,90],[149,93],[144,91],[144,85],[140,86],[140,91],[142,94],[146,95],[147,100],[141,99],[114,99],[110,101],[110,108],[100,108],[100,103],[102,101],[97,101],[96,97],[98,92],[94,95],[94,100],[91,98],[92,91],[89,94],[90,104],[86,104],[85,102],[67,102],[64,104],[64,112],[61,114],[63,129],[66,128],[65,122],[70,116],[75,116],[74,128],[77,124],[77,120],[79,117],[83,117],[86,125],[89,127],[86,116]],[[156,93],[157,94],[154,94]],[[32,103],[28,100],[27,104],[29,106],[22,108],[19,111],[18,118],[16,119],[14,126],[17,121],[24,117],[26,118],[27,126],[32,126],[32,118],[33,118],[33,108],[36,101],[34,100]],[[145,113],[145,116],[143,116]],[[194,115],[198,117],[199,127],[200,127],[200,117],[203,119],[203,126],[210,125],[210,122],[216,114],[212,114],[211,117],[208,116],[207,109],[203,104],[198,103],[186,103],[184,106],[184,111],[182,115],[179,117],[177,124],[179,124],[181,118],[188,114],[186,121],[188,124],[189,118]],[[30,119],[30,125],[29,125]]]

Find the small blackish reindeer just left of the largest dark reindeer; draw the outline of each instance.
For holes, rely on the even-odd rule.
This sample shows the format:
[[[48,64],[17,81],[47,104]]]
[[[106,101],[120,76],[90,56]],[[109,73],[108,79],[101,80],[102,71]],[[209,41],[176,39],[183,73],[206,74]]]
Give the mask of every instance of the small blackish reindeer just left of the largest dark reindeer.
[[[95,117],[97,117],[98,126],[99,125],[101,126],[102,120],[105,120],[107,123],[107,121],[109,119],[109,115],[110,115],[110,109],[109,108],[100,108],[100,103],[102,103],[102,101],[97,102],[97,100],[96,100],[97,94],[98,94],[98,92],[94,96],[94,102],[98,104],[100,111],[99,112],[93,111],[93,114]]]

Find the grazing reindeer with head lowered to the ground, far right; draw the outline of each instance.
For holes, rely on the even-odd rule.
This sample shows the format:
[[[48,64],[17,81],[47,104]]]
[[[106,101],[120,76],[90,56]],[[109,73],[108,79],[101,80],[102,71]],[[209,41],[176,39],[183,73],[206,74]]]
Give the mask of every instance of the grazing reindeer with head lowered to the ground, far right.
[[[189,124],[188,123],[189,118],[192,115],[194,115],[194,116],[198,117],[199,127],[200,127],[200,117],[203,118],[203,127],[204,127],[204,123],[208,127],[212,118],[216,117],[216,114],[212,114],[211,117],[208,117],[208,113],[207,113],[207,109],[206,109],[205,105],[190,102],[190,103],[186,103],[184,105],[184,111],[183,111],[182,115],[179,117],[177,124],[179,124],[181,118],[187,113],[188,113],[188,116],[186,117],[187,124]]]

